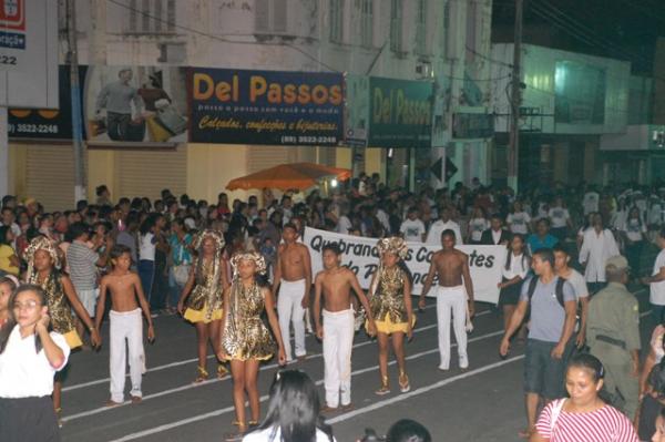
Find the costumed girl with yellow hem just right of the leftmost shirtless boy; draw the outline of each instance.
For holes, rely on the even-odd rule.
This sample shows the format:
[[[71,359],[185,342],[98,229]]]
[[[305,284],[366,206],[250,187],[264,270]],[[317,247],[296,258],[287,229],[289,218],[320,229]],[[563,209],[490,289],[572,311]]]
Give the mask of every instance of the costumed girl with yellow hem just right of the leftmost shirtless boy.
[[[215,230],[203,230],[194,238],[197,256],[190,270],[190,278],[177,302],[177,311],[196,327],[198,340],[198,374],[194,383],[207,379],[208,341],[215,354],[219,353],[222,332],[222,304],[226,282],[226,261],[223,259],[224,238]],[[186,302],[186,309],[185,309]],[[217,377],[224,378],[228,370],[217,367]]]

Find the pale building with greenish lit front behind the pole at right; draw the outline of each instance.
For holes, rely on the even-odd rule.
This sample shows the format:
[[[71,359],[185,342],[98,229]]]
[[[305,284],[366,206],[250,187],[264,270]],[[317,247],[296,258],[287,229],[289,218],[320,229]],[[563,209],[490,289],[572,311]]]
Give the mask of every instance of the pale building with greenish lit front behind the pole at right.
[[[631,64],[620,60],[523,44],[522,104],[520,109],[521,183],[549,186],[553,182],[602,184],[608,179],[603,136],[625,134],[631,102],[644,111],[647,83],[631,76]],[[500,156],[508,145],[510,115],[510,63],[512,43],[492,48],[497,115],[493,158],[494,176],[502,182],[505,171]],[[640,164],[626,165],[640,168]]]

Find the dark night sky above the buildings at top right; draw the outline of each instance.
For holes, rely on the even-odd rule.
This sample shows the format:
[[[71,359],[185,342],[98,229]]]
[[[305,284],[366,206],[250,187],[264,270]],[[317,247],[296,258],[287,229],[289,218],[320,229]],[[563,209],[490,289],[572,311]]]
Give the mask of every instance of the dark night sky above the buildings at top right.
[[[494,0],[492,41],[513,40],[514,1]],[[590,53],[653,70],[656,38],[665,37],[665,0],[524,0],[525,43]]]

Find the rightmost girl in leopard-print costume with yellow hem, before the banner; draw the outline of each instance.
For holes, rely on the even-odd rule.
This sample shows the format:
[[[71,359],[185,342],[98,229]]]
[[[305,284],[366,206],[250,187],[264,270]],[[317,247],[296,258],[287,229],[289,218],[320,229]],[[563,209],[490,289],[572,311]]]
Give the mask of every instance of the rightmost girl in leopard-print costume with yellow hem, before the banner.
[[[369,306],[377,325],[379,341],[379,371],[381,387],[377,394],[390,392],[388,383],[388,339],[392,335],[392,350],[399,367],[399,389],[406,393],[411,389],[405,364],[405,335],[413,337],[415,322],[411,308],[411,275],[401,259],[407,257],[409,247],[399,237],[382,238],[377,244],[380,263],[372,276]]]

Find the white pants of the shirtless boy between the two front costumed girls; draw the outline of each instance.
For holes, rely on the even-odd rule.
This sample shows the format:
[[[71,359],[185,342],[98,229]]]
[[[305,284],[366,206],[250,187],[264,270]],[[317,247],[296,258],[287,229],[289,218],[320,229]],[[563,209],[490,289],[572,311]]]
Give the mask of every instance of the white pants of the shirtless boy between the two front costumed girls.
[[[324,383],[326,404],[330,408],[351,403],[351,348],[354,310],[324,310]]]

